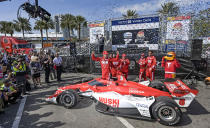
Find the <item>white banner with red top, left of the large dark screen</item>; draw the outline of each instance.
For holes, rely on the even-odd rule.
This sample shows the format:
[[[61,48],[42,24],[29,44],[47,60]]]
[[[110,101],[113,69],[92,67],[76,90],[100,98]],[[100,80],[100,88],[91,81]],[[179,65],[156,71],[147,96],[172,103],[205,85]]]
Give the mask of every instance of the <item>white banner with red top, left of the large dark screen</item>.
[[[90,43],[98,43],[101,36],[104,36],[104,23],[89,24]]]

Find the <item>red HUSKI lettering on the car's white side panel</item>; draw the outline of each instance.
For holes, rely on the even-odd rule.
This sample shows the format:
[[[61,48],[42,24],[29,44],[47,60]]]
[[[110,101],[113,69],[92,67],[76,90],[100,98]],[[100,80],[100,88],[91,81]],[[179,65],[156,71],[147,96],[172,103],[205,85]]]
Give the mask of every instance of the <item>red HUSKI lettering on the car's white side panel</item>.
[[[119,104],[120,104],[120,100],[119,99],[111,99],[111,98],[99,97],[99,101],[101,103],[107,104],[107,105],[112,106],[114,108],[118,108]]]

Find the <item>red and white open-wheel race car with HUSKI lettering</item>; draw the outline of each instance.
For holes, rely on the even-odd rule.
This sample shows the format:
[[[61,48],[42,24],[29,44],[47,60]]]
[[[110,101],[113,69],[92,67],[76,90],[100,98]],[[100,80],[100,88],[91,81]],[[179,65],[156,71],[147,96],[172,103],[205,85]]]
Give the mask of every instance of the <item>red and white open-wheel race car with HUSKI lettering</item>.
[[[190,89],[179,79],[137,83],[118,76],[116,81],[96,78],[59,87],[45,100],[69,109],[75,107],[82,97],[88,97],[95,101],[96,111],[104,114],[175,125],[182,117],[180,108],[188,107],[197,94],[196,89]]]

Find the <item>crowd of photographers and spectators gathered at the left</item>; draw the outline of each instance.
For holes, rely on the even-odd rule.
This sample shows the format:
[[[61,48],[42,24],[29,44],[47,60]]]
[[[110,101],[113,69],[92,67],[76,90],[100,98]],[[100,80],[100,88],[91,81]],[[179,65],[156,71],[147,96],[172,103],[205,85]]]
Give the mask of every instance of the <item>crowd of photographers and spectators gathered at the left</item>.
[[[61,81],[62,58],[58,53],[33,50],[29,54],[0,54],[0,114],[9,105],[16,104],[17,99],[29,94],[32,87],[42,87],[40,77],[43,73],[47,84],[50,78]]]

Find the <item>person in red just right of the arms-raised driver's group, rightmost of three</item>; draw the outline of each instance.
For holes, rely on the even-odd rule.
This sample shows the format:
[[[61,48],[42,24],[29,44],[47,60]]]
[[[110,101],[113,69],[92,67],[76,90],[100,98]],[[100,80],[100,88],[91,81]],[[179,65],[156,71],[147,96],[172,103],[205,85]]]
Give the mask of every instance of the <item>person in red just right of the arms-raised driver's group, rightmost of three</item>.
[[[128,68],[130,65],[129,59],[126,59],[126,54],[122,54],[122,59],[119,60],[118,69],[122,75],[125,76],[125,79],[128,77]]]

